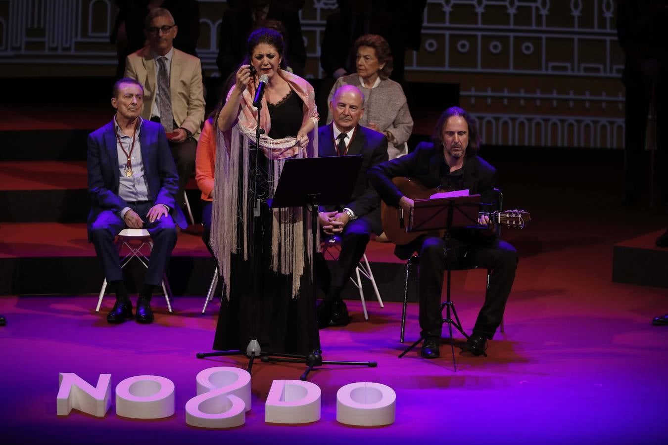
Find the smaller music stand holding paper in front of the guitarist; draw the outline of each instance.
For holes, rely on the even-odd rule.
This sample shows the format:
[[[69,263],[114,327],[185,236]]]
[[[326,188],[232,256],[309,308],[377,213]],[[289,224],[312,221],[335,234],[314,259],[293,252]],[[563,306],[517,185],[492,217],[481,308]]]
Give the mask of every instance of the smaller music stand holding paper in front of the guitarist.
[[[424,232],[424,231],[438,231],[445,230],[444,240],[446,241],[446,265],[448,276],[450,276],[450,261],[448,255],[450,252],[450,230],[453,228],[482,228],[478,224],[478,211],[480,209],[480,195],[468,195],[458,197],[444,197],[438,199],[418,199],[415,200],[414,206],[409,215],[409,226],[406,232]],[[449,287],[448,287],[449,289]],[[448,308],[446,311],[446,318],[441,320],[441,326],[444,323],[448,324],[450,332],[450,348],[452,350],[452,366],[457,371],[457,364],[455,362],[455,348],[452,339],[452,327],[462,333],[468,340],[468,334],[464,332],[462,323],[460,322],[457,310],[454,303],[450,300],[450,292],[448,292],[447,299],[441,304],[441,312],[443,308]],[[454,316],[454,320],[451,316]],[[411,346],[408,346],[399,358],[405,356],[407,352],[415,348],[418,343],[425,339],[422,334]],[[484,353],[483,353],[484,354]],[[487,354],[485,354],[487,356]]]

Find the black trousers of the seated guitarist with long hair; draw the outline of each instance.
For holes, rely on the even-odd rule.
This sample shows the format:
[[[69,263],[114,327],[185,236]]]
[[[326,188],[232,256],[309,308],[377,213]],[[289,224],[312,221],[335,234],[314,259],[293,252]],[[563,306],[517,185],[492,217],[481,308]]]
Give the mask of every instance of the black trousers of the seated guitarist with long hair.
[[[441,336],[444,270],[450,262],[452,270],[471,266],[492,270],[485,303],[473,328],[474,334],[491,339],[501,324],[515,279],[518,261],[515,248],[496,237],[476,240],[474,243],[450,238],[450,249],[446,255],[446,242],[442,238],[424,236],[414,243],[419,246],[416,250],[420,253],[418,294],[421,334]]]

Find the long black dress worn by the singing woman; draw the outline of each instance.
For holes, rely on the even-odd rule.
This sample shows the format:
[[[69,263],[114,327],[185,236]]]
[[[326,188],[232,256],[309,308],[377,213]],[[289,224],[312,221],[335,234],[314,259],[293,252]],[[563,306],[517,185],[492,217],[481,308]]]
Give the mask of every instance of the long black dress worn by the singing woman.
[[[271,129],[269,137],[295,136],[301,128],[303,102],[299,95],[291,91],[279,103],[269,104]],[[320,338],[315,326],[315,311],[311,301],[311,268],[307,252],[311,246],[304,242],[305,271],[299,277],[285,275],[271,270],[271,231],[273,214],[266,198],[269,195],[267,181],[267,163],[269,160],[262,151],[260,155],[259,195],[261,196],[261,216],[253,217],[253,205],[248,204],[253,224],[248,224],[252,231],[253,245],[249,250],[248,260],[242,254],[233,254],[229,301],[223,299],[218,315],[214,350],[246,351],[248,342],[257,338],[263,352],[308,354],[320,348]],[[254,151],[251,151],[254,157]],[[254,165],[254,162],[251,162]],[[253,175],[251,175],[251,179]],[[253,187],[253,185],[251,186]],[[253,193],[248,193],[252,199]],[[239,193],[242,199],[242,193]],[[306,221],[304,222],[306,234]],[[238,224],[239,232],[242,225]],[[292,296],[292,280],[300,280],[299,298]]]

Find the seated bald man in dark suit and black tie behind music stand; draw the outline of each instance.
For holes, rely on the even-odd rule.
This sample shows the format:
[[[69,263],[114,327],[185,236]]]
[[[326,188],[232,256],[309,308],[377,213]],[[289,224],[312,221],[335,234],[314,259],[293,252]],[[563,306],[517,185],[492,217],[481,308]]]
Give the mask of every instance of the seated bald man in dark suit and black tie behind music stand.
[[[317,308],[320,328],[345,326],[348,310],[341,289],[350,277],[369,242],[371,233],[383,232],[380,220],[380,197],[367,170],[387,161],[387,137],[358,125],[364,113],[364,95],[354,85],[337,89],[329,103],[333,121],[318,129],[318,156],[363,155],[351,201],[321,207],[318,222],[325,236],[341,237],[341,254],[331,271],[329,290]],[[327,280],[321,281],[327,282]]]

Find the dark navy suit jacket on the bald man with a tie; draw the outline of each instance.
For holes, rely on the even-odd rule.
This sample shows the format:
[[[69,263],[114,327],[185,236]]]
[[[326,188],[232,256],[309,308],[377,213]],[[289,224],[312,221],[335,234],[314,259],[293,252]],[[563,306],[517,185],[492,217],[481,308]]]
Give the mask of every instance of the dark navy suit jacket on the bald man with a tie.
[[[318,129],[318,157],[336,156],[333,123]],[[363,155],[362,166],[353,189],[351,201],[339,205],[323,205],[321,211],[341,211],[348,207],[355,216],[367,219],[375,234],[383,232],[380,220],[380,197],[371,186],[367,171],[381,162],[387,161],[387,137],[383,133],[357,125],[353,140],[348,145],[348,155]]]

